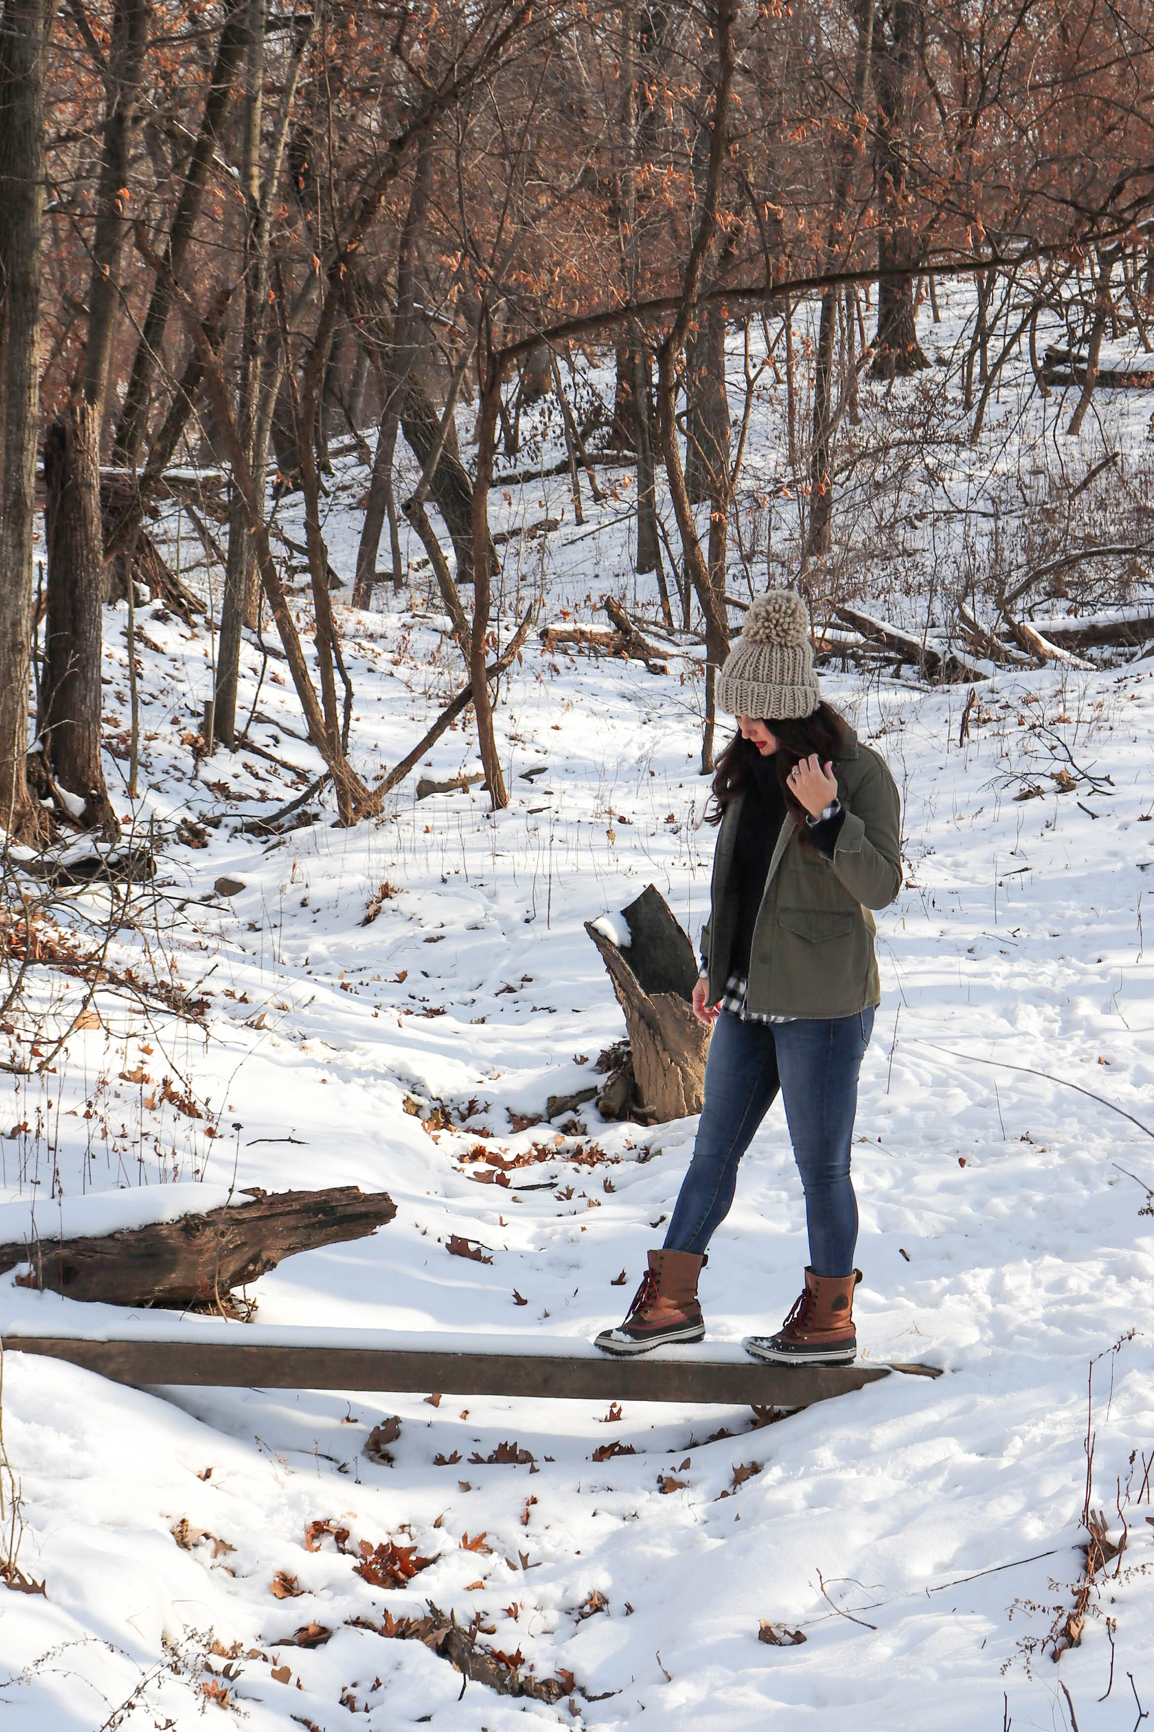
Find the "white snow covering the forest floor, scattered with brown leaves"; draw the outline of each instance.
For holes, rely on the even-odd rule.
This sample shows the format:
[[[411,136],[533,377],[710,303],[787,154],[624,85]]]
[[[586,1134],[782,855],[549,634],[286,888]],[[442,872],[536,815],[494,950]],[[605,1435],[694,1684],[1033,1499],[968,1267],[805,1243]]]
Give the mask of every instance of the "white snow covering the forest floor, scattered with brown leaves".
[[[869,393],[877,416],[894,412]],[[751,435],[766,476],[775,404]],[[988,424],[983,485],[997,485],[1016,414],[1007,404]],[[1132,405],[1102,398],[1100,414],[1116,414],[1102,438],[1133,436]],[[952,461],[972,480],[976,457]],[[552,624],[595,620],[604,592],[633,599],[616,480],[618,501],[587,504],[583,528],[564,476],[493,495],[497,527],[564,513],[561,530],[507,547],[502,639],[535,591]],[[327,525],[343,573],[363,483],[346,461]],[[299,539],[299,504],[280,521]],[[187,523],[182,535],[187,559]],[[651,604],[649,582],[637,594]],[[457,689],[443,625],[427,573],[412,596],[346,615],[365,772]],[[106,627],[114,717],[123,610]],[[621,1036],[583,921],[651,882],[694,937],[704,918],[713,831],[692,655],[671,653],[659,675],[531,639],[498,710],[505,812],[479,788],[417,802],[410,779],[381,823],[344,831],[327,814],[270,843],[239,833],[237,812],[268,812],[317,774],[280,665],[251,738],[299,778],[244,750],[196,766],[182,736],[208,691],[208,632],[156,610],[140,629],[135,818],[164,838],[152,942],[206,999],[204,1020],[102,992],[102,1025],[73,1036],[55,1072],[10,1079],[5,1231],[21,1209],[31,1219],[31,1199],[45,1233],[61,1195],[71,1209],[100,1193],[90,1207],[128,1223],[156,1218],[144,1188],[175,1181],[202,1183],[209,1202],[234,1183],[356,1183],[388,1190],[396,1219],[260,1280],[261,1323],[562,1342],[619,1320],[694,1122],[602,1124],[590,1107],[564,1128],[514,1124],[588,1086]],[[246,712],[258,672],[249,650]],[[1069,1723],[1061,1685],[1081,1732],[1130,1732],[1154,1708],[1154,662],[998,674],[962,743],[965,688],[851,674],[825,688],[905,800],[907,883],[879,918],[884,1001],[855,1147],[860,1341],[870,1360],[945,1375],[891,1377],[756,1427],[749,1410],[628,1399],[606,1412],[452,1393],[137,1393],[9,1344],[5,1545],[16,1521],[19,1569],[45,1595],[0,1590],[5,1729],[232,1715],[254,1732],[997,1732]],[[433,778],[474,772],[472,727],[429,759]],[[220,894],[221,876],[242,889]],[[128,934],[118,946],[140,954]],[[484,1261],[450,1256],[450,1235]],[[775,1108],[711,1249],[711,1339],[777,1325],[803,1263]],[[83,1327],[80,1311],[0,1278],[5,1334]],[[1042,1644],[1081,1574],[1092,1367],[1093,1509],[1114,1540],[1125,1522],[1128,1545],[1099,1580],[1081,1647],[1055,1666]],[[363,1455],[388,1415],[391,1465]],[[502,1444],[531,1460],[490,1462],[516,1453]],[[403,1567],[422,1567],[374,1585],[356,1573],[362,1541],[379,1566],[405,1552],[377,1547],[414,1547]],[[462,1696],[445,1658],[379,1633],[429,1602],[562,1694],[472,1682]],[[766,1645],[761,1621],[806,1640]],[[310,1626],[320,1645],[298,1645]]]

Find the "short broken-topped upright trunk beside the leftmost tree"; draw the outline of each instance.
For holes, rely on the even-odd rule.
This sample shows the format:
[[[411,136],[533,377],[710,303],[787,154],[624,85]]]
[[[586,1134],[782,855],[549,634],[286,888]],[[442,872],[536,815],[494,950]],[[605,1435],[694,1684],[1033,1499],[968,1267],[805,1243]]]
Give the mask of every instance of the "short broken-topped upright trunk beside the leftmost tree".
[[[83,400],[48,428],[43,452],[48,594],[45,611],[43,715],[47,764],[66,793],[85,802],[85,830],[109,842],[119,824],[100,762],[100,410]],[[131,582],[131,575],[128,578]]]

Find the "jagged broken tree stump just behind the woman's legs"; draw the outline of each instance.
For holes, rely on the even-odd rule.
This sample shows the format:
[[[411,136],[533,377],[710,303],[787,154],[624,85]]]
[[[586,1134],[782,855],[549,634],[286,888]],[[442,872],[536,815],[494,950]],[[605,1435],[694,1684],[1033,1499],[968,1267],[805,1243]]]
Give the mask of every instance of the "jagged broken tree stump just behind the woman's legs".
[[[621,909],[628,944],[614,944],[587,920],[612,991],[625,1011],[640,1114],[652,1124],[701,1112],[709,1029],[694,1017],[690,999],[697,961],[689,937],[664,897],[649,885]]]

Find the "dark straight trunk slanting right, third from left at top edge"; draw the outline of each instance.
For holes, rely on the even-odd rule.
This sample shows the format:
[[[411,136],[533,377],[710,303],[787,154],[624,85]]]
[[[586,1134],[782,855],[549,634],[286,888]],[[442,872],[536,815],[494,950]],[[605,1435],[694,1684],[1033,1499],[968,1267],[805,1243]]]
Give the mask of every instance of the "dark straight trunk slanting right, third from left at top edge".
[[[42,3],[45,3],[45,0],[42,0]],[[204,99],[201,126],[192,147],[192,156],[189,158],[183,185],[173,213],[173,223],[168,232],[168,242],[164,246],[164,263],[173,277],[180,277],[185,255],[192,241],[192,232],[196,229],[197,216],[201,215],[201,199],[204,197],[208,173],[218,149],[218,133],[228,111],[232,85],[244,54],[249,3],[251,0],[225,0],[225,23],[216,45],[216,61],[213,64],[208,95]],[[114,449],[118,459],[130,466],[137,462],[137,454],[144,438],[149,402],[152,397],[152,379],[156,376],[156,365],[164,341],[164,329],[168,326],[171,305],[171,294],[164,288],[164,282],[157,279],[152,284],[152,294],[144,315],[144,326],[140,329],[140,341],[137,343],[128,390],[125,393],[119,421],[116,424]]]

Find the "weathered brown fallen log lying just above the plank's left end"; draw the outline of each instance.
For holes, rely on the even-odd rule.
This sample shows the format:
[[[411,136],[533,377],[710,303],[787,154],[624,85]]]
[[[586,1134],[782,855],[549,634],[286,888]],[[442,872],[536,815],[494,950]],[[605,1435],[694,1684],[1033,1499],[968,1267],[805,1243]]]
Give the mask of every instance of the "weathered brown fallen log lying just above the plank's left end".
[[[116,1233],[14,1240],[0,1245],[0,1273],[29,1263],[17,1285],[100,1304],[221,1304],[284,1257],[367,1238],[396,1214],[384,1192],[356,1185],[242,1195],[249,1200]]]

